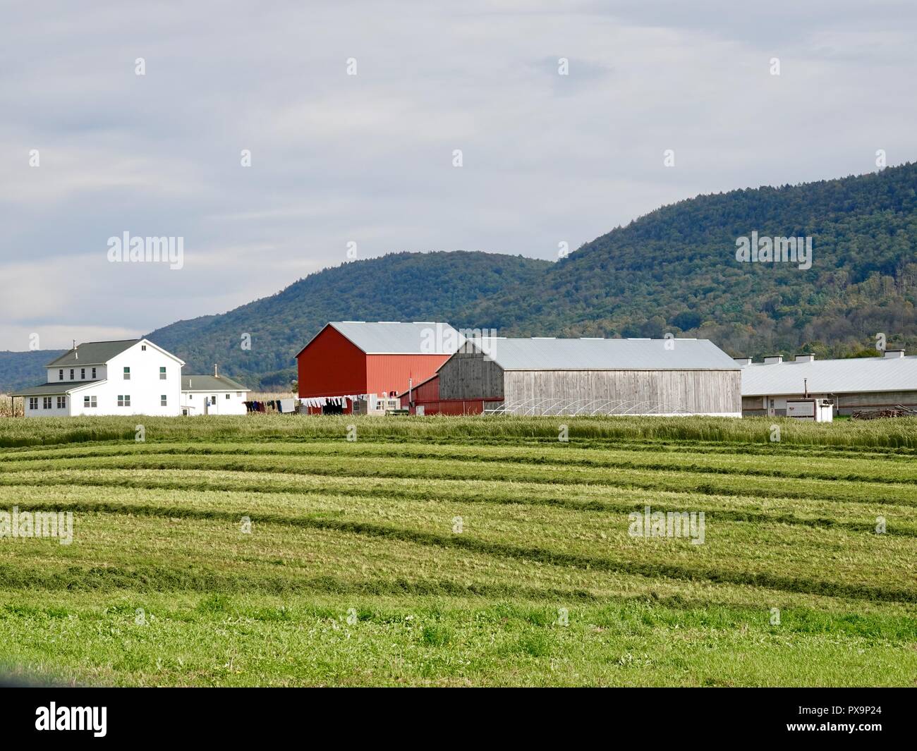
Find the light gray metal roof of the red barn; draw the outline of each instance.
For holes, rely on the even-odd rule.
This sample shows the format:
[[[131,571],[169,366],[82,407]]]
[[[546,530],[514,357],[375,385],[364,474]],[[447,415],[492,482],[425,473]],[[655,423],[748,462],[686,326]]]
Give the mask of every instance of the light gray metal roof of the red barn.
[[[332,321],[328,326],[367,355],[451,355],[461,343],[458,331],[436,321]]]

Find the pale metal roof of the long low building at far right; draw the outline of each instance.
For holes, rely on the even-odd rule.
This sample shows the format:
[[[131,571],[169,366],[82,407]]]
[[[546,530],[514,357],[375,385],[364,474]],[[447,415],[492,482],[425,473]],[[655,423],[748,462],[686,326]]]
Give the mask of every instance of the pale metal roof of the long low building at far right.
[[[917,391],[917,356],[753,362],[742,369],[743,396]]]

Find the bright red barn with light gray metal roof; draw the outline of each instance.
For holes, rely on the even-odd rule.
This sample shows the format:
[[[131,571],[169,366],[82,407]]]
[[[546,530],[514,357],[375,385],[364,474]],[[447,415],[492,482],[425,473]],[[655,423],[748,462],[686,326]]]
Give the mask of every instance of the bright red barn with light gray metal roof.
[[[299,396],[314,400],[310,414],[350,414],[355,402],[375,409],[436,373],[459,345],[448,324],[335,321],[296,355]]]

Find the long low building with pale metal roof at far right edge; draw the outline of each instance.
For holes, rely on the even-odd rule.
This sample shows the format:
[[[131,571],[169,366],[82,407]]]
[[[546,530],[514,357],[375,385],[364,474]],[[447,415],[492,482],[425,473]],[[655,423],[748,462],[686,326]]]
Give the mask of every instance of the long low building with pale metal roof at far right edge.
[[[742,366],[742,414],[779,417],[787,400],[804,394],[830,399],[834,414],[853,414],[898,406],[917,410],[917,357],[903,349],[887,349],[881,358],[816,360],[779,355],[764,362],[736,358]]]

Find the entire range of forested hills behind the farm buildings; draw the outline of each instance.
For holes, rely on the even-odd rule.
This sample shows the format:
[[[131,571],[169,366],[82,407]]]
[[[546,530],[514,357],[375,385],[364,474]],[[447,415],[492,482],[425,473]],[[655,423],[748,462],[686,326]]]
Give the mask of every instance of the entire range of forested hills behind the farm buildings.
[[[736,237],[812,237],[812,268],[739,263]],[[224,315],[149,337],[252,387],[286,385],[329,320],[444,320],[507,336],[707,337],[732,355],[846,357],[917,348],[917,164],[840,180],[702,195],[657,209],[558,263],[397,253],[312,274]],[[251,336],[251,349],[240,347]],[[4,358],[4,355],[7,358]],[[28,362],[18,362],[24,357]],[[50,353],[0,353],[0,386]],[[7,361],[8,360],[8,361]],[[11,384],[9,379],[14,379]]]

